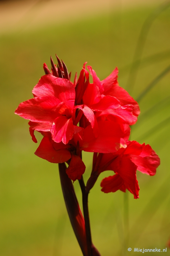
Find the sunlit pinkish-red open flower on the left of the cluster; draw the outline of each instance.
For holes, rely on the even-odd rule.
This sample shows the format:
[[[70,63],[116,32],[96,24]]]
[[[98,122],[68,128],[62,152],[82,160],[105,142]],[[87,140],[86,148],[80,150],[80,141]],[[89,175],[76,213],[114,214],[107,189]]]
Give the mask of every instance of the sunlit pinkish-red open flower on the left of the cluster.
[[[33,89],[34,99],[19,104],[15,114],[34,122],[33,130],[50,131],[56,142],[73,137],[75,90],[73,83],[52,75],[42,76]]]

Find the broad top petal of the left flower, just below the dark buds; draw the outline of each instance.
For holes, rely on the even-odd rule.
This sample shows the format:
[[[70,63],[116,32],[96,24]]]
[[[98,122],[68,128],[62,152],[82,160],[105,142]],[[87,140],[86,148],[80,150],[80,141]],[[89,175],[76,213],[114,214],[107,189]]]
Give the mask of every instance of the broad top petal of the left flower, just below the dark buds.
[[[35,97],[54,96],[69,107],[74,107],[74,85],[67,79],[52,75],[42,76],[32,92]]]

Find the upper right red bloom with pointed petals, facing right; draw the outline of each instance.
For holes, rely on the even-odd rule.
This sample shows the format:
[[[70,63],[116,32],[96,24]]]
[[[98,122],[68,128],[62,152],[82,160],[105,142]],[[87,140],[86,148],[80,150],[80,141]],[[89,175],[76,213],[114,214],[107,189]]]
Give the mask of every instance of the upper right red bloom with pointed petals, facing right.
[[[119,100],[119,108],[103,108],[102,112],[96,113],[96,117],[101,115],[107,116],[108,114],[110,114],[112,116],[120,117],[122,119],[122,122],[126,124],[135,124],[137,121],[137,116],[140,113],[139,106],[138,103],[128,94],[128,92],[126,92],[118,85],[118,69],[116,68],[110,76],[108,76],[103,81],[100,81],[92,67],[87,66],[87,68],[89,69],[90,74],[93,77],[93,84],[89,83],[87,86],[87,89],[83,95],[84,104],[91,106],[91,108],[94,110],[95,108],[101,109],[101,99],[105,101],[105,104],[108,104],[108,100],[111,99],[110,97],[112,96]],[[91,97],[89,98],[90,94]]]

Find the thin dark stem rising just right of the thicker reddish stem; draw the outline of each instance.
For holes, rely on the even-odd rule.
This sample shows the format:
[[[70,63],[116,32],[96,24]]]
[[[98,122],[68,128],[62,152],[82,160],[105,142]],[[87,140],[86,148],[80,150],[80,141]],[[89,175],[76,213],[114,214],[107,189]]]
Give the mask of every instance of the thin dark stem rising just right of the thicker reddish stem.
[[[90,230],[90,219],[89,219],[89,208],[88,208],[88,196],[89,191],[86,191],[83,177],[79,180],[81,192],[82,192],[82,202],[83,202],[83,213],[86,227],[86,241],[88,248],[88,256],[92,256],[92,239],[91,239],[91,230]]]

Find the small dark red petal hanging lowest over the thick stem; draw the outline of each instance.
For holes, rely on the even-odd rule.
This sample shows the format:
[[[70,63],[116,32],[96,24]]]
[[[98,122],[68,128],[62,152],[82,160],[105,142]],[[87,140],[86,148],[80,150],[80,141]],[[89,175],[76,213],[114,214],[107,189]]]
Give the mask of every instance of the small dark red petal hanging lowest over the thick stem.
[[[81,176],[85,172],[85,169],[86,166],[81,160],[81,158],[77,155],[72,155],[70,164],[66,169],[66,173],[71,180],[80,180]]]

